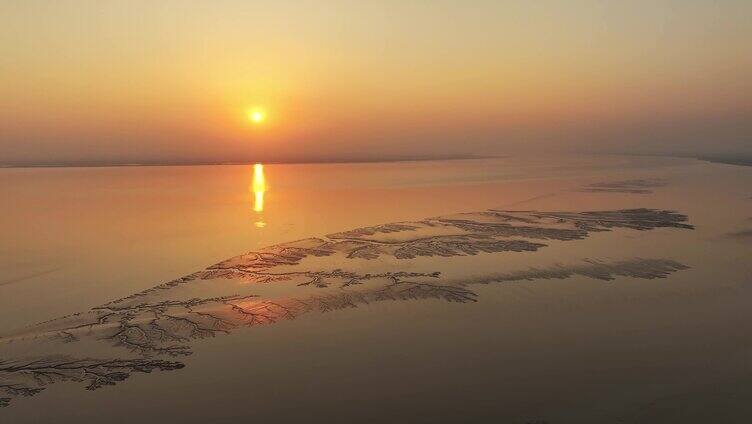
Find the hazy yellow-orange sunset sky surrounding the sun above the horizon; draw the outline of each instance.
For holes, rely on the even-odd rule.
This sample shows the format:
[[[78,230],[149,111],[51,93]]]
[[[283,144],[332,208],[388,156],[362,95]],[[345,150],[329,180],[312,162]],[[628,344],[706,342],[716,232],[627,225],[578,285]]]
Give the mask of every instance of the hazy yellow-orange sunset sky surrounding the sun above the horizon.
[[[4,0],[0,163],[749,155],[750,22],[744,0]]]

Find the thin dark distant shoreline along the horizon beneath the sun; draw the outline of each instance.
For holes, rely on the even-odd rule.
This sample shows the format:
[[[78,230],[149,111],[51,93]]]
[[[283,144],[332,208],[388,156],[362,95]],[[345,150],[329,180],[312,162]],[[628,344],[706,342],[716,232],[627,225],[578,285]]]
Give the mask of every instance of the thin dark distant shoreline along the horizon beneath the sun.
[[[179,162],[58,162],[58,163],[7,163],[0,164],[0,169],[10,168],[114,168],[142,166],[216,166],[216,165],[252,165],[263,164],[344,164],[344,163],[391,163],[391,162],[427,162],[442,160],[493,159],[504,156],[482,155],[448,155],[448,156],[405,156],[386,158],[344,158],[344,159],[300,159],[300,160],[243,160],[243,161],[179,161]]]

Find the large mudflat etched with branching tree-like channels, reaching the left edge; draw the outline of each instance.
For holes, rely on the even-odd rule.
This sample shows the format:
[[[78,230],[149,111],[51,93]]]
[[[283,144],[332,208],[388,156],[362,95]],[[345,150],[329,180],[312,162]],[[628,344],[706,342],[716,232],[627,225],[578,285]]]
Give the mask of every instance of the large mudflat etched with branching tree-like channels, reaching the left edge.
[[[481,267],[474,258],[535,252],[552,242],[582,240],[593,232],[614,229],[691,229],[686,221],[684,215],[653,209],[488,210],[270,246],[87,312],[6,335],[0,339],[0,357],[4,358],[0,361],[0,406],[15,397],[33,396],[55,382],[83,383],[94,390],[121,382],[132,373],[180,369],[183,363],[176,358],[190,355],[194,340],[308,312],[386,300],[474,302],[478,295],[472,286],[493,282],[573,276],[603,281],[624,276],[665,278],[686,266],[661,258],[585,258],[571,264],[504,270]],[[463,266],[473,276],[449,277],[446,258],[464,258]],[[270,285],[282,289],[269,294],[265,288]],[[3,351],[10,344],[15,347],[11,355]],[[20,355],[22,351],[28,354]],[[61,353],[48,354],[57,351]],[[39,352],[46,352],[45,356]]]

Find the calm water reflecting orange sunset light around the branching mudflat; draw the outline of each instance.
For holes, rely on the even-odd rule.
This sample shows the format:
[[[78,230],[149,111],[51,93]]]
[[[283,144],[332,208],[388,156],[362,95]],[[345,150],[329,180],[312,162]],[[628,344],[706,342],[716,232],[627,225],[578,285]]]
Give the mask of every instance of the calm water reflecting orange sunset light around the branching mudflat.
[[[4,363],[50,354],[180,363],[150,374],[131,367],[126,381],[96,391],[83,390],[88,380],[44,382],[35,396],[12,396],[0,416],[9,422],[558,423],[745,422],[752,412],[742,401],[752,382],[745,319],[752,239],[744,236],[752,228],[752,168],[592,156],[266,165],[263,175],[261,186],[252,166],[0,170],[0,195],[8,200],[0,221]],[[417,239],[454,234],[454,227],[425,221],[431,217],[497,209],[534,211],[518,216],[530,220],[531,213],[633,208],[675,211],[694,228],[620,224],[568,239],[559,227],[581,228],[582,215],[559,214],[534,220],[553,226],[556,236],[527,229],[502,237],[545,245],[535,249],[489,244],[483,227],[470,247],[431,238],[415,250]],[[404,221],[431,225],[354,238],[403,248],[409,242],[413,257],[379,250],[376,258],[348,259],[338,255],[351,251],[337,250],[274,264],[308,277],[325,273],[326,287],[212,274],[178,287],[190,287],[184,292],[149,294],[147,303],[237,292],[286,302],[349,293],[344,277],[332,272],[406,272],[472,294],[368,298],[323,314],[296,311],[294,320],[272,311],[264,318],[274,325],[234,322],[221,337],[187,337],[190,356],[113,346],[103,340],[111,336],[107,328],[87,329],[74,343],[43,340],[75,326],[69,321],[52,321],[52,330],[28,327],[243,252],[325,235],[342,240],[331,235]],[[375,286],[357,288],[386,283],[369,284]],[[246,311],[257,306],[233,304]],[[304,312],[318,312],[319,304]],[[0,385],[19,375],[7,366],[3,372]]]

